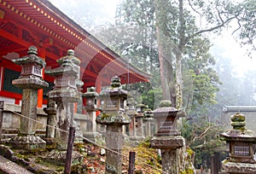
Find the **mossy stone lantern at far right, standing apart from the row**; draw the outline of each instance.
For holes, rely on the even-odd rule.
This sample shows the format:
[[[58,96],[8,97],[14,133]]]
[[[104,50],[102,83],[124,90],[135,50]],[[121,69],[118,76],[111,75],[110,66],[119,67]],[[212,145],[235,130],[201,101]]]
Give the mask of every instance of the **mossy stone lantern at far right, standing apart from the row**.
[[[229,159],[223,161],[224,170],[229,173],[255,173],[253,159],[256,135],[245,129],[245,116],[241,113],[231,115],[233,129],[220,134],[220,139],[230,146]]]

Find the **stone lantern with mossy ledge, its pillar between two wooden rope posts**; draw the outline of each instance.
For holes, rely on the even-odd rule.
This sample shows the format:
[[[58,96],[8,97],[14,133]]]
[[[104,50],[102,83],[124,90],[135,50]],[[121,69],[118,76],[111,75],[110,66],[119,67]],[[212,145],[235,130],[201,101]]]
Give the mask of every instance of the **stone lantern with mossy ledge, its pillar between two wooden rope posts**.
[[[111,79],[111,87],[100,93],[102,113],[96,118],[96,122],[107,125],[104,134],[107,148],[105,173],[122,173],[121,149],[124,143],[122,134],[123,125],[129,125],[131,119],[125,114],[125,100],[128,92],[121,89],[120,78],[115,76]]]

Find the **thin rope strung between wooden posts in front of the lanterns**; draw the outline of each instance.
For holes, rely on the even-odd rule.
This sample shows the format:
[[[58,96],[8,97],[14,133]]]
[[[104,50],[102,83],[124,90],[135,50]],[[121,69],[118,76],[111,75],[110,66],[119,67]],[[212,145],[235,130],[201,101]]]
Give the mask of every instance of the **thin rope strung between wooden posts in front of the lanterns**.
[[[51,128],[55,128],[55,130],[63,131],[63,132],[69,133],[69,131],[61,130],[60,128],[55,127],[55,126],[53,126],[53,125],[47,125],[47,124],[45,124],[45,123],[43,123],[43,122],[40,122],[40,121],[38,121],[38,120],[36,120],[36,119],[32,119],[32,118],[26,117],[25,115],[22,115],[22,114],[20,114],[20,113],[17,113],[17,112],[15,112],[15,111],[12,111],[12,110],[10,110],[10,109],[7,108],[7,107],[3,107],[3,108],[4,108],[5,110],[11,112],[11,113],[15,113],[16,115],[19,115],[20,117],[23,117],[23,118],[32,120],[32,121],[34,121],[34,122],[36,122],[36,123],[38,123],[38,124],[41,124],[41,125],[44,125],[44,126],[49,126],[49,127],[51,127]],[[76,133],[75,133],[75,134],[76,134]],[[93,141],[91,141],[90,139],[88,139],[88,138],[86,138],[86,137],[84,137],[84,136],[77,136],[77,134],[76,134],[76,137],[80,137],[80,138],[84,139],[86,142],[90,142],[90,143],[92,143],[92,144],[94,144],[94,145],[96,145],[96,146],[98,146],[98,147],[100,147],[100,148],[105,148],[105,149],[107,149],[108,151],[112,152],[113,154],[118,154],[118,155],[122,156],[123,158],[125,158],[126,160],[129,160],[129,156],[127,156],[126,154],[120,154],[119,152],[114,151],[114,150],[111,149],[111,148],[102,146],[101,144],[98,144],[98,143],[96,143],[96,142],[93,142]],[[154,167],[154,166],[152,166],[152,165],[148,165],[148,163],[147,163],[145,160],[143,160],[143,159],[138,159],[137,157],[136,157],[136,159],[137,159],[137,161],[143,163],[143,165],[147,165],[148,167],[150,167],[150,168],[152,168],[152,169],[154,169],[154,170],[156,170],[156,171],[160,171],[160,172],[163,173],[163,174],[168,174],[166,171],[162,171],[162,170],[160,170],[160,169],[158,169],[158,168],[156,168],[156,167]]]

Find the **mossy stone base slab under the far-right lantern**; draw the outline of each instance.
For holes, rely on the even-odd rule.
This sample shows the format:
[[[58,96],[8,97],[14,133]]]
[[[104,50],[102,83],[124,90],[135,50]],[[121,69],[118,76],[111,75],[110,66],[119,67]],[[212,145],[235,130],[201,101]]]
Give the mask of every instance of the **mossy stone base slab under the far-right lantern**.
[[[222,165],[228,173],[256,173],[256,164],[230,162],[228,159],[224,159]]]

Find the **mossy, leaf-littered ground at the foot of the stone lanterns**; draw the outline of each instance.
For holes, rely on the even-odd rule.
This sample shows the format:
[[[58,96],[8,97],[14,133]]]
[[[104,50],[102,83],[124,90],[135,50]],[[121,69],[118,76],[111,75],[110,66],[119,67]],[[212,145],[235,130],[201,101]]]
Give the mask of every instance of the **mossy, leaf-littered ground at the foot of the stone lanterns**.
[[[129,166],[129,152],[136,152],[135,173],[150,173],[160,174],[161,165],[160,157],[157,154],[156,149],[149,147],[149,141],[141,142],[137,147],[124,146],[122,154],[125,154],[123,158],[123,172],[128,173]],[[15,157],[20,160],[26,161],[26,168],[29,168],[33,173],[51,173],[61,174],[64,171],[65,165],[59,165],[56,163],[48,162],[44,160],[44,157],[49,154],[47,150],[40,153],[27,153],[25,151],[12,149]],[[83,155],[83,162],[73,165],[72,173],[105,173],[105,155],[100,154],[100,147],[90,143],[77,143],[73,150]],[[29,165],[27,165],[29,164]],[[20,164],[22,165],[22,164]]]

